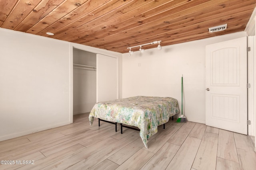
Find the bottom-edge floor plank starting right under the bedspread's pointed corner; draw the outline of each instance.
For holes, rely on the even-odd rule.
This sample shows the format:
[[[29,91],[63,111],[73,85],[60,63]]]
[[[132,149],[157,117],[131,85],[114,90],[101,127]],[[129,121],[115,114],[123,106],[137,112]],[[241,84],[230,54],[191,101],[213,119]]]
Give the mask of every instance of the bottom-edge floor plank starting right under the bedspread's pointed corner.
[[[148,160],[154,155],[154,153],[149,152],[144,149],[140,149],[134,155],[132,155],[128,160],[126,160],[122,165],[118,166],[116,170],[138,170],[140,169]]]

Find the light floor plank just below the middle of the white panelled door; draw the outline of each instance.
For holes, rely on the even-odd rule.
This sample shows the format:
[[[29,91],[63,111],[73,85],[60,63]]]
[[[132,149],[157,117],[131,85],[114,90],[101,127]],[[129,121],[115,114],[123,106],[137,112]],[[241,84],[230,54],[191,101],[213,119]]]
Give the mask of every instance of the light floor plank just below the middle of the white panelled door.
[[[217,156],[220,158],[238,162],[233,132],[223,129],[219,130]]]

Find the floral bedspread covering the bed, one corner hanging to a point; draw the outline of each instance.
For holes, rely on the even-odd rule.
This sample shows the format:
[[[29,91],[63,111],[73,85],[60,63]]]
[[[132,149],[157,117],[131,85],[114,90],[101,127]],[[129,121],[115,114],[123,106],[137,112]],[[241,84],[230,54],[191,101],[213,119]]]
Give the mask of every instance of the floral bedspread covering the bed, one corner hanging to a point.
[[[138,127],[140,137],[148,148],[148,138],[157,133],[157,127],[177,113],[179,107],[174,98],[136,96],[96,103],[89,114],[89,120],[90,125],[96,117]]]

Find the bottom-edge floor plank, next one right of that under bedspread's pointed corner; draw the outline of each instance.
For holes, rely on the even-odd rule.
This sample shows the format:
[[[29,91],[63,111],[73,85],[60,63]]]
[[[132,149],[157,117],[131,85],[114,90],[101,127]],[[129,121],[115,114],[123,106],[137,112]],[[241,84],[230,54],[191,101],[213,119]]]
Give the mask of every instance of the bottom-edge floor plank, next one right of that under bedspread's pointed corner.
[[[180,146],[166,142],[141,170],[164,170],[179,149]]]

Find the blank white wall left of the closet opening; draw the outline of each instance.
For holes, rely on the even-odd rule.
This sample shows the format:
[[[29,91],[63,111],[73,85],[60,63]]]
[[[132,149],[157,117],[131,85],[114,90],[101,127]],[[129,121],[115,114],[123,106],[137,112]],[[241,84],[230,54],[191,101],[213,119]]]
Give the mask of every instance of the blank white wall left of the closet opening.
[[[70,44],[0,29],[0,141],[70,123]]]

